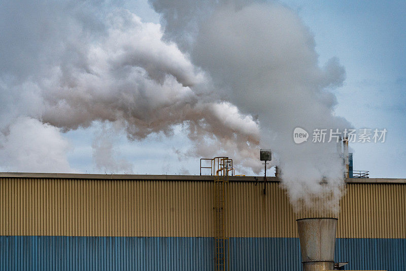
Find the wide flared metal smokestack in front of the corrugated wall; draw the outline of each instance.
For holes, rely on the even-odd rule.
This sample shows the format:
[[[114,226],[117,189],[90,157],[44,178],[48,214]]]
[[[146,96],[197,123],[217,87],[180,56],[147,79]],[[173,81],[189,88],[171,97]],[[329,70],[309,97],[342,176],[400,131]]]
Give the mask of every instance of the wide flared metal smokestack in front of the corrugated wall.
[[[303,271],[334,268],[336,218],[297,219]]]

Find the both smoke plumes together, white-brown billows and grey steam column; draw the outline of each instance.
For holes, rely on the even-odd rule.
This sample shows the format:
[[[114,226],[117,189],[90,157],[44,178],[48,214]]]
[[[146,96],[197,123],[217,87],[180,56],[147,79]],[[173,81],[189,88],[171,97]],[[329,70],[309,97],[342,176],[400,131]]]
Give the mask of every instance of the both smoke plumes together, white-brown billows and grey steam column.
[[[1,26],[19,33],[21,51],[3,50],[3,63],[13,64],[0,67],[3,145],[21,115],[46,123],[50,134],[111,122],[135,143],[182,126],[194,145],[181,157],[226,155],[241,171],[259,173],[259,148],[270,147],[292,202],[311,204],[327,187],[335,206],[344,171],[335,145],[297,145],[292,133],[350,127],[333,111],[345,70],[334,57],[319,65],[312,34],[294,12],[250,1],[152,0],[162,19],[155,24],[113,3],[85,4],[38,4],[18,10],[24,19],[14,28]],[[41,12],[32,17],[28,8]],[[40,29],[35,35],[31,25]],[[95,163],[130,170],[108,159],[115,150],[103,134],[93,144]]]

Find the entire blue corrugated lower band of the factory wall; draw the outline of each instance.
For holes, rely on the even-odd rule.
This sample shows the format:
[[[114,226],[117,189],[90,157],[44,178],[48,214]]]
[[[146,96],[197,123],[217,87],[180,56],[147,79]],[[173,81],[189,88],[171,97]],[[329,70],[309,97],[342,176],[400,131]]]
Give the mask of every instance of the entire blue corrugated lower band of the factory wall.
[[[213,270],[210,237],[0,236],[0,270]],[[338,238],[346,269],[406,270],[406,239]],[[230,270],[301,270],[298,238],[230,238]]]

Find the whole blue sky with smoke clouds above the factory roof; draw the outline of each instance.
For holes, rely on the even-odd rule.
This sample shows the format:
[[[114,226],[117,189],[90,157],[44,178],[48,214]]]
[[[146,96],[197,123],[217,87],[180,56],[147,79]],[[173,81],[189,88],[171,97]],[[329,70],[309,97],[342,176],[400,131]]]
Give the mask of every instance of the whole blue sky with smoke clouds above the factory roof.
[[[403,1],[5,1],[0,170],[198,174],[200,157],[227,155],[262,174],[258,149],[270,147],[287,176],[297,165],[324,176],[331,164],[309,157],[327,150],[293,144],[295,127],[378,128],[384,143],[350,144],[354,169],[406,177],[405,12]]]

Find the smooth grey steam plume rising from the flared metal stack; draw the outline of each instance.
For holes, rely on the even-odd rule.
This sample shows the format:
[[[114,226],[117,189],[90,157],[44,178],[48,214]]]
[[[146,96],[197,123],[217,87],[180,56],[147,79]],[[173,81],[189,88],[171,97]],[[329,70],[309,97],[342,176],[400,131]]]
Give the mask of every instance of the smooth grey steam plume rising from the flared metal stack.
[[[187,23],[177,28],[173,14],[181,10],[178,13],[167,1],[151,2],[163,12],[165,37],[179,41],[178,33]],[[187,7],[192,1],[183,2]],[[205,14],[191,9],[179,19],[205,18],[189,35],[194,41],[185,46],[193,64],[210,75],[223,97],[242,112],[258,116],[261,145],[273,148],[291,200],[311,204],[312,197],[332,192],[334,205],[344,175],[341,159],[334,155],[335,143],[298,145],[293,130],[307,130],[311,141],[313,129],[350,127],[333,111],[332,91],[343,84],[344,68],[334,57],[320,67],[309,29],[281,5],[225,1],[211,7]],[[322,180],[327,184],[320,185]]]

